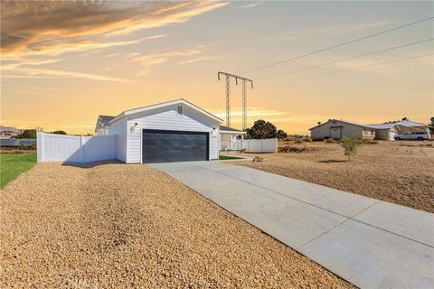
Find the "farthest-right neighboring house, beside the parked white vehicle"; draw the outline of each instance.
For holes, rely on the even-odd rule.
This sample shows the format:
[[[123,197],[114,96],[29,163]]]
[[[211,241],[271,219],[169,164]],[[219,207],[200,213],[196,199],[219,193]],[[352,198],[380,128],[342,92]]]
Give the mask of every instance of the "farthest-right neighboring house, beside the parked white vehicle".
[[[397,122],[389,122],[383,124],[368,125],[375,127],[375,139],[379,140],[394,140],[395,135],[404,134],[413,131],[426,131],[428,125],[417,123],[410,120],[402,120]]]

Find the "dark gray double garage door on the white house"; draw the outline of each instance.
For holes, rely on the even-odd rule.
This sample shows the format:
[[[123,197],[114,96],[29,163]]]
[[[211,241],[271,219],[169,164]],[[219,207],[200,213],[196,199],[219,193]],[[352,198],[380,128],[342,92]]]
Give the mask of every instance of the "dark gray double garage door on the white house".
[[[208,133],[143,130],[143,163],[208,160]]]

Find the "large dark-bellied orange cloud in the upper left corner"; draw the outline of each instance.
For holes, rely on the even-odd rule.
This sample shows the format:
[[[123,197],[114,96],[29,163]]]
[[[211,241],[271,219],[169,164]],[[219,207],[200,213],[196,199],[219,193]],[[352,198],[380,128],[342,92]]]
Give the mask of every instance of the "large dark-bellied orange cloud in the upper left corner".
[[[214,1],[2,1],[2,54],[59,55],[136,42],[100,42],[96,37],[125,35],[169,23],[182,23],[228,3]],[[150,36],[157,39],[163,35]],[[79,48],[82,47],[82,48]]]

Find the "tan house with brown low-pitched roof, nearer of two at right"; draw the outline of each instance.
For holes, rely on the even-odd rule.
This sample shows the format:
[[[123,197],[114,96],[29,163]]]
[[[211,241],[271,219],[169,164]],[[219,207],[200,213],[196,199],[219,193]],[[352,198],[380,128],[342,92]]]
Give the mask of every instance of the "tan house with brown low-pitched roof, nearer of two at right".
[[[371,139],[375,137],[375,128],[372,126],[338,119],[329,119],[324,124],[311,127],[309,130],[310,137],[313,140],[321,140],[325,138],[340,139],[344,136],[356,136]]]

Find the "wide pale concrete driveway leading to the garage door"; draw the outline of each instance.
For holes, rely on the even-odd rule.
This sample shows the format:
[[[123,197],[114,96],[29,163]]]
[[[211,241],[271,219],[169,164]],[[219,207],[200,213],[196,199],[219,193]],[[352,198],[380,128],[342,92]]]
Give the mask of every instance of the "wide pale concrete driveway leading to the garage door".
[[[434,215],[222,162],[154,163],[362,288],[434,288]]]

